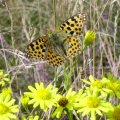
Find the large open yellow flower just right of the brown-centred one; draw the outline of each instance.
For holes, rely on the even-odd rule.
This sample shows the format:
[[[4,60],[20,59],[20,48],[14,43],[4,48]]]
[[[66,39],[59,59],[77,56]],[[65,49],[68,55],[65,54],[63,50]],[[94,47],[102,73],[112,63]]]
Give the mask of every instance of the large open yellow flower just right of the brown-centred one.
[[[96,114],[102,116],[103,113],[108,112],[111,108],[111,104],[106,102],[104,98],[105,94],[100,93],[98,89],[87,89],[82,104],[81,99],[76,103],[79,107],[77,112],[81,112],[82,116],[89,115],[90,113],[91,120],[96,120]]]

